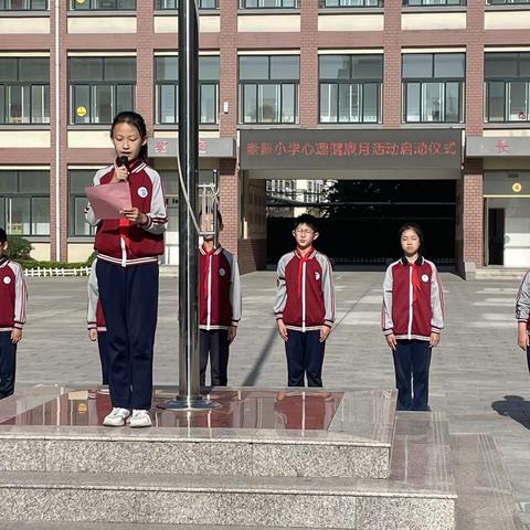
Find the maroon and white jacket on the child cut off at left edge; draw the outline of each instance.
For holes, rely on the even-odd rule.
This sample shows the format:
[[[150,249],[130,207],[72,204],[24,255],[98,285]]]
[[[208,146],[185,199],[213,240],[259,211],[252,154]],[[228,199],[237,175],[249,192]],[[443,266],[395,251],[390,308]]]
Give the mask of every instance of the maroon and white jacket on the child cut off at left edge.
[[[28,288],[22,267],[8,257],[0,258],[0,331],[22,329],[26,301]]]

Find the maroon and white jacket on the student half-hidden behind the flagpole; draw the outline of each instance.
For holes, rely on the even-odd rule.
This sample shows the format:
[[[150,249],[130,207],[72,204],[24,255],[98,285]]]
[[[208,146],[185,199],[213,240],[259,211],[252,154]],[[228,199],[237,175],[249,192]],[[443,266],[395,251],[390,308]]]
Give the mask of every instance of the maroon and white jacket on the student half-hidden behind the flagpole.
[[[230,329],[241,320],[240,267],[223,247],[199,248],[199,328]]]

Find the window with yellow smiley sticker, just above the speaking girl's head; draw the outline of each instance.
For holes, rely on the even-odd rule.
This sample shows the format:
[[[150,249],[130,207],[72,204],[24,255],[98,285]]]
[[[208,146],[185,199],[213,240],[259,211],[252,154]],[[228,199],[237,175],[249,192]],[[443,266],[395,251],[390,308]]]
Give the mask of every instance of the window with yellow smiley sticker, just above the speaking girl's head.
[[[71,123],[112,124],[135,108],[135,57],[70,57]]]

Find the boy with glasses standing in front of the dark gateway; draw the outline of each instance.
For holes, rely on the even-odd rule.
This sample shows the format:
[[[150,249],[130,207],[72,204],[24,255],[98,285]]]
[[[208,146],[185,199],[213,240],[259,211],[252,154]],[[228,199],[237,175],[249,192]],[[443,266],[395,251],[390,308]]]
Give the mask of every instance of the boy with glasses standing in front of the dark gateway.
[[[322,386],[326,340],[335,321],[335,289],[329,259],[312,247],[317,220],[295,220],[296,248],[278,262],[274,312],[287,357],[289,386]]]

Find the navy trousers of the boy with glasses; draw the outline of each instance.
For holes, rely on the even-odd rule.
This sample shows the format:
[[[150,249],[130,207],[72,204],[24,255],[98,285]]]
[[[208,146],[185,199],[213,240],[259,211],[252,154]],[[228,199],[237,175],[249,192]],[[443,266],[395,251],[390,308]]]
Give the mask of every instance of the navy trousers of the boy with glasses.
[[[287,384],[289,386],[322,385],[322,362],[326,342],[320,342],[320,331],[287,330]]]

